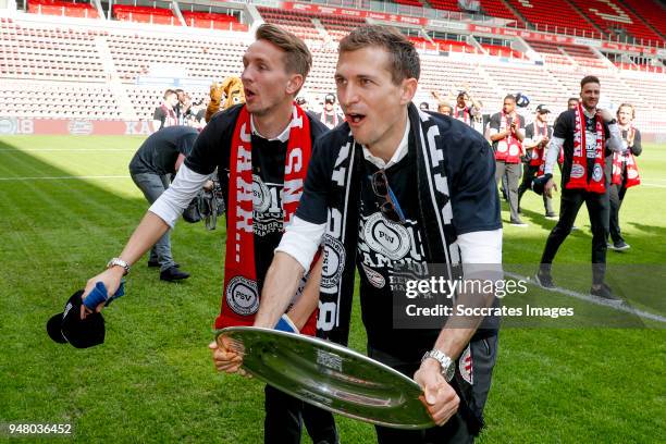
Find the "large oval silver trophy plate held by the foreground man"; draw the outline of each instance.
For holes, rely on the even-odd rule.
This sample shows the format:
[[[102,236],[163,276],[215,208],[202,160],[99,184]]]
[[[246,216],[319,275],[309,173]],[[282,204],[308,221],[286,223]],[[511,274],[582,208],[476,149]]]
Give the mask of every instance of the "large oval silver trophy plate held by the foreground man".
[[[398,371],[341,345],[255,326],[217,332],[255,378],[323,409],[396,429],[434,427],[421,387]]]

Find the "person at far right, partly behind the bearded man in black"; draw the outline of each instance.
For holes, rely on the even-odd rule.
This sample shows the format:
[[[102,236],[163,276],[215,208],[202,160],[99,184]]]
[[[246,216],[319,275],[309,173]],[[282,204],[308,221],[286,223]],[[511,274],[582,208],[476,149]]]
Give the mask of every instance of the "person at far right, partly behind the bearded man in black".
[[[620,104],[617,109],[617,120],[622,141],[627,145],[628,151],[625,155],[614,153],[613,158],[606,159],[606,168],[608,168],[612,175],[608,197],[610,200],[609,229],[613,243],[608,243],[608,248],[615,251],[625,251],[630,248],[620,231],[619,209],[627,188],[640,183],[633,157],[640,156],[643,152],[643,147],[641,145],[641,132],[632,125],[633,119],[636,119],[633,106],[631,103]]]

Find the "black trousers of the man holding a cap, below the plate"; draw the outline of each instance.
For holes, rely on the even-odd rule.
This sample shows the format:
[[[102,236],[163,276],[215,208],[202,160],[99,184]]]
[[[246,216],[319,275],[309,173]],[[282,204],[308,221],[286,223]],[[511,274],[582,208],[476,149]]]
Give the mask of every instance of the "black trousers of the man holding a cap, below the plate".
[[[313,444],[338,443],[333,414],[304,403],[271,385],[267,385],[264,392],[264,443],[299,444],[304,422]]]

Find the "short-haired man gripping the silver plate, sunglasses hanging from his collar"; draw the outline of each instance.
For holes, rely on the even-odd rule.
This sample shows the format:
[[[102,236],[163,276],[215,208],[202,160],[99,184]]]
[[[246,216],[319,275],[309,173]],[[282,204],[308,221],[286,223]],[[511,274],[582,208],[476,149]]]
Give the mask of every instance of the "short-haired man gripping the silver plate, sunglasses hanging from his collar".
[[[379,442],[470,442],[482,427],[496,329],[454,328],[452,318],[442,320],[443,329],[397,329],[392,300],[403,266],[501,262],[491,148],[469,126],[411,102],[419,55],[397,29],[358,27],[341,40],[338,53],[335,84],[346,123],[316,144],[300,206],[267,274],[256,325],[272,324],[288,305],[323,240],[320,310],[326,316],[320,319],[329,320],[330,337],[348,333],[357,270],[368,355],[412,377],[440,425],[378,425]]]

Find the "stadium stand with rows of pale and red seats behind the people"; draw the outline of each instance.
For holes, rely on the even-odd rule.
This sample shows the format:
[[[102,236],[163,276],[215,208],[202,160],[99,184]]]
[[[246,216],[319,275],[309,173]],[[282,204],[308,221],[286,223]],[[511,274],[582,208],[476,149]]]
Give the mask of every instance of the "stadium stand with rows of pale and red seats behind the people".
[[[60,16],[35,8],[37,2],[47,1],[35,0],[30,3],[32,9],[28,4],[28,12],[35,13],[5,17],[0,10],[3,113],[47,119],[118,120],[133,116],[150,120],[166,86],[178,85],[197,100],[208,96],[211,82],[239,75],[243,52],[252,40],[247,33],[250,23],[239,21],[239,17],[250,15],[247,11],[236,10],[238,13],[229,14],[210,10],[182,11],[185,22],[182,26],[178,14],[168,9],[116,4],[113,8],[114,21],[90,20],[90,15],[89,18],[71,18],[64,5],[57,7]],[[57,0],[51,0],[49,4],[54,2]],[[459,13],[457,3],[454,3],[443,0],[436,4],[428,2],[441,8],[446,4],[451,11]],[[568,8],[567,13],[562,13],[568,18],[563,24],[580,25],[571,34],[580,36],[582,29],[587,29],[587,37],[592,32],[599,35],[596,25],[588,22],[567,2],[530,0],[534,7],[530,13],[526,12],[527,3],[508,0],[508,4],[529,22],[542,25],[552,25],[554,16],[560,14],[554,14],[553,8]],[[502,4],[503,12],[495,12],[498,11],[494,9],[497,4]],[[403,5],[415,7],[411,2]],[[481,7],[486,13],[503,14],[503,23],[520,21],[503,1],[482,1]],[[308,41],[313,66],[304,94],[314,98],[311,102],[316,103],[323,94],[334,91],[335,40],[350,28],[366,23],[366,18],[334,12],[309,12],[321,11],[316,9],[306,12],[262,5],[256,11],[262,20],[285,26]],[[617,46],[606,51],[605,54],[612,57],[608,60],[600,52],[601,45],[592,48],[584,45],[585,40],[571,37],[546,40],[536,39],[539,35],[533,37],[531,34],[532,38],[521,40],[506,36],[497,39],[486,34],[483,39],[474,39],[466,33],[433,33],[436,28],[408,23],[405,33],[422,50],[421,87],[417,101],[432,101],[432,90],[447,94],[467,85],[466,88],[484,102],[488,113],[499,110],[504,95],[521,91],[533,103],[545,103],[556,114],[564,110],[566,98],[578,94],[580,78],[585,74],[596,74],[602,78],[606,102],[617,106],[629,100],[639,109],[652,110],[649,122],[646,113],[641,112],[637,124],[642,127],[650,124],[666,133],[666,103],[653,99],[666,95],[664,66],[657,60],[659,52],[633,57]],[[650,28],[644,23],[643,27]],[[558,30],[565,33],[564,28]],[[432,38],[434,35],[442,38]],[[664,48],[663,39],[659,44]],[[613,53],[608,55],[608,51]],[[164,71],[165,64],[175,74]],[[34,104],[30,91],[36,87],[46,92],[44,106],[41,101],[39,106]],[[67,103],[67,107],[62,103]]]

